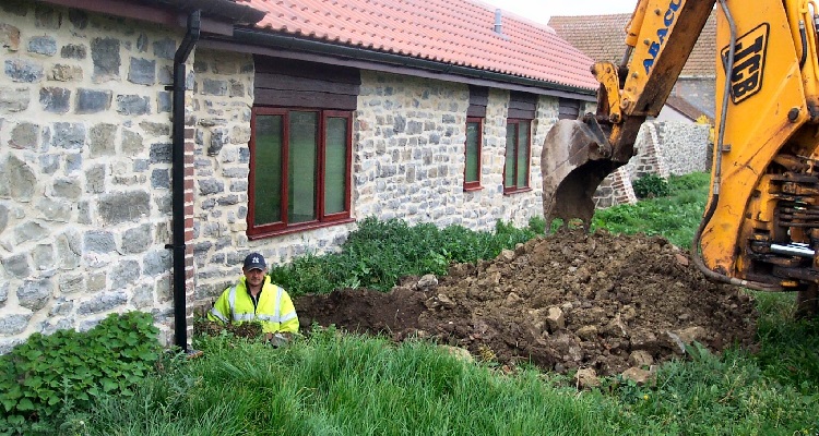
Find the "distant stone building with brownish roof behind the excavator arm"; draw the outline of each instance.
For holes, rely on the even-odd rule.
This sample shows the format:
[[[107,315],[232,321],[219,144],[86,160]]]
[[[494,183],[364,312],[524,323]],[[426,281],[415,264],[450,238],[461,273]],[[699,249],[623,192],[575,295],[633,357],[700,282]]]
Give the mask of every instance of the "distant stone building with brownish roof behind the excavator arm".
[[[595,61],[619,64],[625,29],[631,14],[553,16],[549,26]],[[716,14],[712,13],[680,72],[665,107],[639,133],[638,155],[600,186],[597,207],[636,201],[630,181],[646,173],[667,178],[711,169],[710,128],[713,125],[716,71]]]

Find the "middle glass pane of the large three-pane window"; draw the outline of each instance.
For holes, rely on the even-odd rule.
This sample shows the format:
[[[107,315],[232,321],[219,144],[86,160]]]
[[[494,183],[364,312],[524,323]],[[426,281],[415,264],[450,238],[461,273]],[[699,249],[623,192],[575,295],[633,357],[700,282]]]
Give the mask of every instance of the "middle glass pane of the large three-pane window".
[[[316,162],[318,114],[290,112],[289,161],[287,162],[287,221],[312,221],[316,217]]]

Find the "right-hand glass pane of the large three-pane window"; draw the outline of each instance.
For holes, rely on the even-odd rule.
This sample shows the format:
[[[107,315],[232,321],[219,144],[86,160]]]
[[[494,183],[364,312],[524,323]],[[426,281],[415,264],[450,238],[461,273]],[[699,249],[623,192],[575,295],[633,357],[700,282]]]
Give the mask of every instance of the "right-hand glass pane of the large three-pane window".
[[[324,214],[346,208],[347,119],[329,118],[324,144]]]

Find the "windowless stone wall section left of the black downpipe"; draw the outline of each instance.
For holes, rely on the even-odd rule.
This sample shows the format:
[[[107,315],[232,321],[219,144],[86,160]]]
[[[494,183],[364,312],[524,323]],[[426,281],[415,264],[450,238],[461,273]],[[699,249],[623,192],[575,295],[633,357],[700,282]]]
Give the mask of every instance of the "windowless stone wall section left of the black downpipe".
[[[181,32],[0,5],[0,353],[170,295],[170,94]]]

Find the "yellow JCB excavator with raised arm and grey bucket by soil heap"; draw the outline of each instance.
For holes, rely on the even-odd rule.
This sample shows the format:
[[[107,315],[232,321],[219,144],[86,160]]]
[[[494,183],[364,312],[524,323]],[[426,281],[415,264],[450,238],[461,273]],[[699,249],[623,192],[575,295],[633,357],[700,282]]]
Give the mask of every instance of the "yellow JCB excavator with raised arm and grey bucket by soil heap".
[[[716,14],[715,140],[709,201],[692,242],[711,280],[796,292],[817,316],[819,9],[815,0],[640,0],[619,64],[597,62],[595,113],[546,136],[544,215],[589,222],[593,195],[636,155],[699,34]]]

